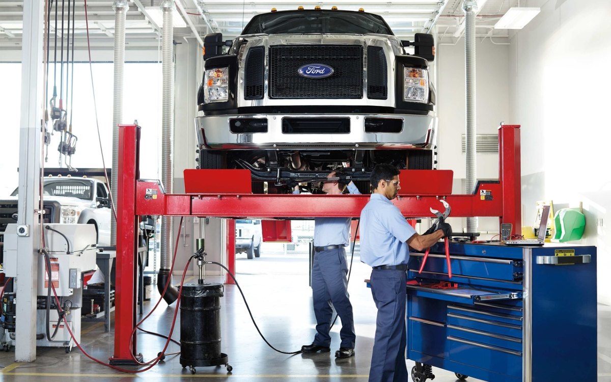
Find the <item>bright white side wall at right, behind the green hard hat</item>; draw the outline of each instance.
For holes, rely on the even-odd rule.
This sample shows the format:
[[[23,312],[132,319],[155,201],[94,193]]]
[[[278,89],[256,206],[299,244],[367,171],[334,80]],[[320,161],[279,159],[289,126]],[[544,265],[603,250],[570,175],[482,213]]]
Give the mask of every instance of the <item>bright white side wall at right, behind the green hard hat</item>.
[[[541,13],[511,39],[511,119],[522,125],[522,205],[583,202],[581,244],[598,247],[598,301],[611,304],[608,136],[611,2],[529,1]],[[601,226],[602,222],[602,226]]]

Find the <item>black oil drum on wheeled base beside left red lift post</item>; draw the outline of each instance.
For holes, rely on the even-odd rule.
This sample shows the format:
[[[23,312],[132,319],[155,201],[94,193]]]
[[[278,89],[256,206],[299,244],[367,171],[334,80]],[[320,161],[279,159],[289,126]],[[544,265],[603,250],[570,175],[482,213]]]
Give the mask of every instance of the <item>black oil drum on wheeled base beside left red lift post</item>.
[[[180,364],[227,364],[221,353],[222,284],[185,284],[180,292]]]

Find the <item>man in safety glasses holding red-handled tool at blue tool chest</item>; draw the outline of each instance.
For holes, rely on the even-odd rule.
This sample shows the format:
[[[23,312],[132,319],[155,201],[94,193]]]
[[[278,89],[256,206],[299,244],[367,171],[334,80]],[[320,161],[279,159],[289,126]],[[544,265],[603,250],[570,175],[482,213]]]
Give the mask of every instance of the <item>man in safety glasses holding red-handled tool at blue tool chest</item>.
[[[360,260],[373,267],[371,295],[378,308],[376,334],[369,370],[370,382],[408,381],[406,347],[406,270],[409,247],[423,251],[452,235],[452,227],[439,222],[419,235],[390,202],[401,189],[399,170],[378,164],[371,172],[371,199],[360,213]]]

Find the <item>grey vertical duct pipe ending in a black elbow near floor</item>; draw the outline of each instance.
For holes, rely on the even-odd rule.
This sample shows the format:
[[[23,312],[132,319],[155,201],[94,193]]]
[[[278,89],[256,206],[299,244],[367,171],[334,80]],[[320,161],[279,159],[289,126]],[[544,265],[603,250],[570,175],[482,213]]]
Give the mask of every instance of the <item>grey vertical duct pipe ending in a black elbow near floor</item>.
[[[163,72],[162,101],[161,101],[161,182],[163,182],[166,193],[172,193],[174,175],[172,174],[172,156],[174,145],[174,35],[172,28],[172,12],[175,5],[172,0],[163,0],[159,5],[163,12],[163,28],[161,30],[161,59]],[[178,298],[177,290],[172,286],[172,218],[163,216],[161,218],[161,265],[157,277],[157,289],[163,292],[168,277],[170,285],[167,287],[163,299],[172,304]]]

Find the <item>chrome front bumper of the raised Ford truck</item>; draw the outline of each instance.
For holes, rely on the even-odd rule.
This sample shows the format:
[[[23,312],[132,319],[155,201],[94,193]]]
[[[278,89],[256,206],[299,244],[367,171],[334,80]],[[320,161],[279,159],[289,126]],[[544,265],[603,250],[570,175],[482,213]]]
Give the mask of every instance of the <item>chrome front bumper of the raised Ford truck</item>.
[[[349,118],[350,132],[345,134],[287,134],[282,132],[283,118],[330,117]],[[365,118],[402,119],[399,133],[365,133]],[[232,133],[229,121],[236,118],[266,118],[266,133]],[[354,149],[365,148],[430,148],[436,117],[409,114],[233,114],[196,118],[197,141],[208,149]]]

